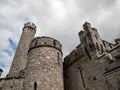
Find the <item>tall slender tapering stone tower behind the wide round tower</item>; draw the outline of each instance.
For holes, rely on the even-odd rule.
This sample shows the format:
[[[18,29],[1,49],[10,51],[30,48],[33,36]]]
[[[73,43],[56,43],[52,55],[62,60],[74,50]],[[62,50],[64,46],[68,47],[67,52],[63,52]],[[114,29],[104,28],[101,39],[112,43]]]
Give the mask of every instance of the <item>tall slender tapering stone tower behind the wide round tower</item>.
[[[26,67],[29,45],[32,39],[34,38],[35,33],[36,33],[35,24],[31,22],[24,24],[18,48],[16,50],[12,66],[7,77],[19,76],[20,71]]]

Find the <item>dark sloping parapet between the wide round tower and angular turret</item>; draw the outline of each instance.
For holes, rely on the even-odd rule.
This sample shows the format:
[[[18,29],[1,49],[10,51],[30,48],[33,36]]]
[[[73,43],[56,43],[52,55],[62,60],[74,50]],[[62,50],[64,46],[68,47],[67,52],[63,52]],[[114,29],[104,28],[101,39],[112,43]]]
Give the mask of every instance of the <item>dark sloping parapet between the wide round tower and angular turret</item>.
[[[81,44],[79,44],[76,49],[74,49],[69,55],[64,58],[64,66],[67,67],[78,59],[82,58],[84,53],[81,49]]]

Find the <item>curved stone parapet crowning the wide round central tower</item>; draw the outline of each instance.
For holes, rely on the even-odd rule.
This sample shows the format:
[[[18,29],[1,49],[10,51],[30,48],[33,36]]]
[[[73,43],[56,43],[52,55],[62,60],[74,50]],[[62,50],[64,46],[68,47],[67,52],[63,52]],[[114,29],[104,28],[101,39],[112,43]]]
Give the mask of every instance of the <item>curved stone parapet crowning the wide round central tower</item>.
[[[43,47],[43,46],[53,47],[58,49],[60,52],[62,52],[61,50],[62,45],[60,44],[60,42],[56,39],[46,36],[34,38],[30,44],[29,51],[33,48]]]

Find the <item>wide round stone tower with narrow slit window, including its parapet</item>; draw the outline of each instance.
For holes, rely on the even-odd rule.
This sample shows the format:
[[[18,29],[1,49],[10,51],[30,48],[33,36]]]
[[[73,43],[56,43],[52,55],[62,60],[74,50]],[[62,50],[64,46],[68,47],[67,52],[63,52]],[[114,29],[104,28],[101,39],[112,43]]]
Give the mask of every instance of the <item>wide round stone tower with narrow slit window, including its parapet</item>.
[[[60,42],[50,37],[32,40],[26,70],[24,90],[63,90]]]

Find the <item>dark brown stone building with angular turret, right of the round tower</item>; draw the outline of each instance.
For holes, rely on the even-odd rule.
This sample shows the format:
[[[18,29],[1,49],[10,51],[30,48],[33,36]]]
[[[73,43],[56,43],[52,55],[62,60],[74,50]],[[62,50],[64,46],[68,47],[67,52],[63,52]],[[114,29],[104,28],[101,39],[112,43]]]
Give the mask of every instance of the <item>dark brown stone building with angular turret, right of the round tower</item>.
[[[89,23],[83,28],[81,44],[64,59],[65,90],[119,90],[120,39],[111,44]]]

